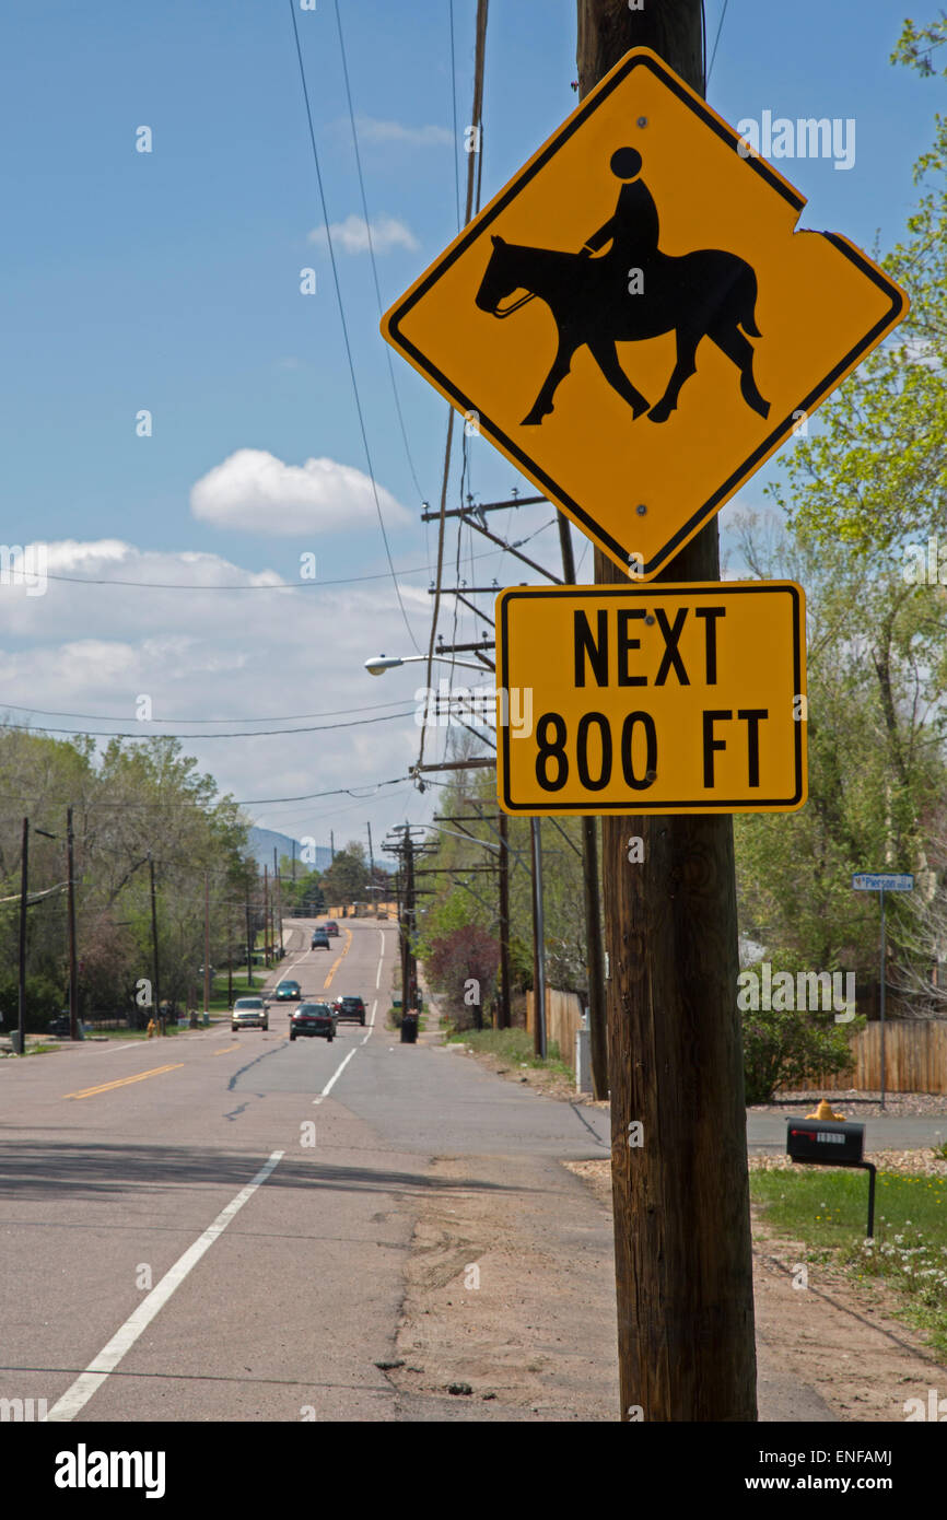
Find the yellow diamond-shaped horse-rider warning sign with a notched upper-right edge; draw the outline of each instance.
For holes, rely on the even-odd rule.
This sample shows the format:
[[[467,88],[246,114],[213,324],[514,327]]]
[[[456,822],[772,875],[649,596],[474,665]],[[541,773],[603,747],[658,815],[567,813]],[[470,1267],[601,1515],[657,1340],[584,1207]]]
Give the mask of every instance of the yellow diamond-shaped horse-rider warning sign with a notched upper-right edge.
[[[804,205],[634,49],[382,333],[648,581],[907,310],[845,237],[795,231]]]

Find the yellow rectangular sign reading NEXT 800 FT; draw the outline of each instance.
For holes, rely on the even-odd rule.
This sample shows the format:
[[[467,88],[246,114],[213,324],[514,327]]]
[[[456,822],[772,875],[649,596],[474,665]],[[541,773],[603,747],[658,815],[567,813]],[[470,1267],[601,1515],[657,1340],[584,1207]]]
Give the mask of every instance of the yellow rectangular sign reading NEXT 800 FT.
[[[505,695],[532,692],[532,727]],[[792,581],[515,587],[497,597],[506,813],[787,813],[806,801]]]

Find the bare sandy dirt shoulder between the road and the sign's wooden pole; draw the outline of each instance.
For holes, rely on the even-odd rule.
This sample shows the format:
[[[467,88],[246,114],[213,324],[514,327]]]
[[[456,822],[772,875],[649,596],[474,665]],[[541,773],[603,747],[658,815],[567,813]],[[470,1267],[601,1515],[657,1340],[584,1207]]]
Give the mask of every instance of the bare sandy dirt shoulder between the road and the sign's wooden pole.
[[[468,1420],[614,1420],[605,1210],[546,1157],[442,1157],[435,1176],[454,1186],[432,1190],[415,1227],[394,1385],[453,1392]]]

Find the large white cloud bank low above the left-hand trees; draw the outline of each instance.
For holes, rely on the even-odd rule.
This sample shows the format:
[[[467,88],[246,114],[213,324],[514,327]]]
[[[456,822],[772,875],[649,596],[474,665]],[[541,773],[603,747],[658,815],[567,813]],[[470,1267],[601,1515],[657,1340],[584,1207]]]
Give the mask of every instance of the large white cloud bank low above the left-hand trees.
[[[49,581],[46,594],[26,597],[0,582],[0,720],[62,728],[67,734],[116,730],[220,733],[228,730],[310,728],[374,717],[372,704],[413,707],[423,667],[407,666],[383,679],[365,660],[386,651],[410,654],[391,581],[292,590],[211,590],[283,587],[274,570],[248,570],[210,553],[141,550],[119,540],[49,544],[50,573],[109,587]],[[382,568],[374,561],[365,572]],[[344,575],[319,555],[319,573]],[[116,582],[147,582],[154,590]],[[201,585],[207,590],[179,590]],[[418,641],[426,637],[430,597],[423,587],[401,587]],[[154,722],[138,720],[138,699],[152,699]],[[94,724],[55,713],[102,714]],[[306,717],[292,714],[328,714]],[[228,719],[222,724],[210,719]],[[266,719],[260,725],[249,717]],[[185,722],[185,720],[193,722]],[[201,771],[239,798],[296,796],[340,787],[369,787],[404,775],[418,755],[413,716],[319,733],[248,739],[187,739]],[[394,792],[394,789],[392,789]],[[429,812],[407,784],[398,800],[354,803],[345,795],[302,804],[254,809],[257,821],[313,834],[328,844],[363,836],[371,819],[375,839],[395,819]],[[345,821],[340,821],[340,819]],[[350,822],[351,821],[351,822]]]

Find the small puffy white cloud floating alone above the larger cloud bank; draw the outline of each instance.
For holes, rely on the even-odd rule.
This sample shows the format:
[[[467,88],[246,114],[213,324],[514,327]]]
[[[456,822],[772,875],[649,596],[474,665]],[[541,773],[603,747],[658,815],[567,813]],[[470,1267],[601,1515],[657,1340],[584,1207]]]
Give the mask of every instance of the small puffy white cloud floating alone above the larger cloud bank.
[[[377,486],[385,523],[410,517],[391,491]],[[264,448],[239,448],[208,470],[190,492],[195,517],[251,534],[325,534],[377,521],[371,480],[334,459],[287,465]]]

